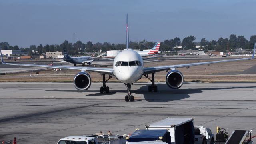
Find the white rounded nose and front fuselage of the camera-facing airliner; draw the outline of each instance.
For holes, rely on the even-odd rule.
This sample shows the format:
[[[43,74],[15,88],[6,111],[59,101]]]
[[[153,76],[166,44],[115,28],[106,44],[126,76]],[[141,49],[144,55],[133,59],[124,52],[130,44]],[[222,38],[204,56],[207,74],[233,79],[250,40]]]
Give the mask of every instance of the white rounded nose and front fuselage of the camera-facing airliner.
[[[116,66],[116,62],[140,61],[141,66]],[[114,59],[113,69],[118,80],[123,83],[137,82],[143,74],[143,59],[134,50],[124,50],[120,52]]]

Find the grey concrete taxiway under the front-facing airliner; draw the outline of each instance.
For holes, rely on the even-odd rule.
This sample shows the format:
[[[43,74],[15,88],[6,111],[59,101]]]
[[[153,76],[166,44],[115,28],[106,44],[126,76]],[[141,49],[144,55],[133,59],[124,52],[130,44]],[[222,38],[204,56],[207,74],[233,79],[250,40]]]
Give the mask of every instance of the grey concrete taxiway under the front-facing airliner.
[[[255,83],[187,83],[178,90],[157,83],[157,93],[149,84],[134,84],[135,100],[125,102],[122,83],[107,83],[110,94],[100,94],[101,83],[86,92],[72,83],[0,83],[0,140],[56,144],[70,135],[129,134],[166,117],[194,117],[213,134],[216,126],[256,134]]]

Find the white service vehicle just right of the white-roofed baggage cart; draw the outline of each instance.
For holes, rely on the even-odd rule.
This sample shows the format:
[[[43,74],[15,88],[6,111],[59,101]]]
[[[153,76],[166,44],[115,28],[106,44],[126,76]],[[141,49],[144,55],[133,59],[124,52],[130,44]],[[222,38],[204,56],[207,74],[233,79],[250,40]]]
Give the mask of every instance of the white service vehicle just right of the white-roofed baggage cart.
[[[195,144],[214,144],[214,134],[210,128],[194,126]]]

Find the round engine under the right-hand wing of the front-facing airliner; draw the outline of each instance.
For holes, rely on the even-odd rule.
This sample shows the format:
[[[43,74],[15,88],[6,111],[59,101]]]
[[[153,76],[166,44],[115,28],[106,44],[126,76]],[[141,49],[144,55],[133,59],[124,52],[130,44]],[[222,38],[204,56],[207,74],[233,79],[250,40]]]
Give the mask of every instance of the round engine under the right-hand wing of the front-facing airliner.
[[[166,75],[166,84],[172,89],[178,89],[182,86],[184,77],[178,70],[171,70]]]

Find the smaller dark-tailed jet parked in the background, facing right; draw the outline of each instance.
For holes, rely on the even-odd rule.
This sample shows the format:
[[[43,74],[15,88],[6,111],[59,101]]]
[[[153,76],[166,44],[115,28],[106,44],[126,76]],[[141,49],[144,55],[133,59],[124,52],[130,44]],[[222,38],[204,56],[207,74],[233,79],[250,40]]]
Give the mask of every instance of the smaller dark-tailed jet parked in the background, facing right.
[[[68,55],[68,53],[66,52],[66,50],[64,50],[63,60],[74,64],[74,66],[76,66],[76,64],[83,64],[83,66],[84,66],[85,63],[91,65],[93,58],[90,56],[70,57]]]

